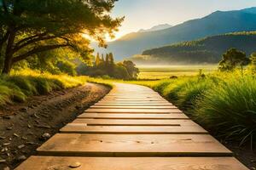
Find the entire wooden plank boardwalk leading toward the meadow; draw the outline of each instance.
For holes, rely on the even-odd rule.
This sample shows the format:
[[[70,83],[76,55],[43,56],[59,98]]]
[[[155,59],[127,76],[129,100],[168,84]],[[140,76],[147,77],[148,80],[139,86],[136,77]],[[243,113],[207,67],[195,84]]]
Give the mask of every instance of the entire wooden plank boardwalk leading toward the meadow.
[[[17,170],[247,170],[150,88],[115,88]]]

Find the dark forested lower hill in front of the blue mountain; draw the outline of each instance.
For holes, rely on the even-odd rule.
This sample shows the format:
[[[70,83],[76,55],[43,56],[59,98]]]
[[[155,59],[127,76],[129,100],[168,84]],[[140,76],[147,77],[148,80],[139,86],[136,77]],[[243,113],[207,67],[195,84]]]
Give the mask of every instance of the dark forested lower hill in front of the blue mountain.
[[[137,64],[210,64],[218,63],[222,54],[229,48],[240,49],[247,55],[256,52],[256,31],[235,32],[148,49],[142,55],[135,55],[131,60]]]

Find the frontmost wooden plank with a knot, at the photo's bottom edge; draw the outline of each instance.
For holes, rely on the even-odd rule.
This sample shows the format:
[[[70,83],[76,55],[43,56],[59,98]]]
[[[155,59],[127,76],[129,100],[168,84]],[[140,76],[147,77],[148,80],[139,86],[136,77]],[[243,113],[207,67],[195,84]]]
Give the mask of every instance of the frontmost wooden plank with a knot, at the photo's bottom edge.
[[[54,157],[32,156],[16,170],[248,170],[234,157]]]

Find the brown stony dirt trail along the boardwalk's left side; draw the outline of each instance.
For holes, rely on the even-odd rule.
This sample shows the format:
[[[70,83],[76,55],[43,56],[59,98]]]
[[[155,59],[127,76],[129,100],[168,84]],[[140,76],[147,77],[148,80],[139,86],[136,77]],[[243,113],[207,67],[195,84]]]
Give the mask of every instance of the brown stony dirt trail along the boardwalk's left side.
[[[39,145],[102,99],[109,90],[87,83],[0,108],[0,169],[12,169],[35,154]]]

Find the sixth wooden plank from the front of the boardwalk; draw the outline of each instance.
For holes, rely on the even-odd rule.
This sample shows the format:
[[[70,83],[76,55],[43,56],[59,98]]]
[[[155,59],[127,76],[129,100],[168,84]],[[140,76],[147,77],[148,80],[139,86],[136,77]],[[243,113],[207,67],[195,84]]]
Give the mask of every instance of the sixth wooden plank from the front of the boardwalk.
[[[88,109],[86,113],[182,113],[178,109]]]

